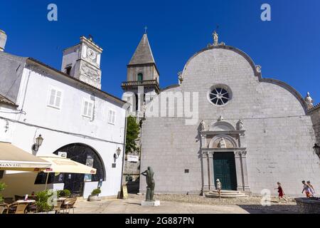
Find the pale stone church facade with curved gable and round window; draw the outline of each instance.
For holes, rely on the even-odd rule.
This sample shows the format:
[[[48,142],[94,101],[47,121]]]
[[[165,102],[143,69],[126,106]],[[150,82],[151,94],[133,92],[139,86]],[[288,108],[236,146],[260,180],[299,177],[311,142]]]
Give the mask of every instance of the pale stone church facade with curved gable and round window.
[[[265,189],[277,194],[277,182],[287,195],[301,195],[302,180],[319,191],[320,160],[302,96],[282,81],[263,78],[250,56],[214,37],[213,45],[188,60],[180,83],[146,105],[141,170],[153,168],[156,192],[162,193],[201,194],[214,190],[218,178],[225,190],[256,195]],[[188,93],[198,93],[192,101],[198,102],[198,118],[191,125]],[[161,101],[174,116],[161,115]],[[145,189],[142,179],[140,191]]]

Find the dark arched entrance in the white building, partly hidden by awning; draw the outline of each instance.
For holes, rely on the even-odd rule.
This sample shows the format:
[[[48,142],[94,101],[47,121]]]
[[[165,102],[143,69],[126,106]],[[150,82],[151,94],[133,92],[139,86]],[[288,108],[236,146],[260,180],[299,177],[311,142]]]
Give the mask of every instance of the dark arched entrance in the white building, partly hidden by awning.
[[[105,180],[105,165],[92,147],[82,143],[73,143],[65,145],[53,153],[55,155],[65,154],[75,162],[80,162],[97,169],[95,175],[65,173],[61,176],[61,178],[63,178],[64,189],[70,190],[73,196],[82,196],[85,182],[99,182],[100,180]]]

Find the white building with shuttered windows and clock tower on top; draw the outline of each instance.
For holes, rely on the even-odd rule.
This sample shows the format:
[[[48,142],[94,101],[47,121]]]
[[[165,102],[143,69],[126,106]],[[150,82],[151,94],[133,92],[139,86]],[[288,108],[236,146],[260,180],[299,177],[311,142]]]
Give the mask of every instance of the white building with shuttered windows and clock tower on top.
[[[0,40],[6,35],[0,31]],[[0,43],[4,50],[5,42]],[[125,104],[101,88],[102,48],[92,38],[80,38],[63,52],[62,71],[0,51],[0,142],[11,142],[34,155],[67,152],[72,160],[93,165],[97,175],[51,175],[54,190],[68,189],[87,197],[102,180],[102,197],[117,196],[122,183]],[[43,143],[33,150],[36,138]],[[117,155],[117,149],[121,154]],[[44,189],[45,176],[4,172],[4,197]],[[86,181],[85,181],[86,180]]]

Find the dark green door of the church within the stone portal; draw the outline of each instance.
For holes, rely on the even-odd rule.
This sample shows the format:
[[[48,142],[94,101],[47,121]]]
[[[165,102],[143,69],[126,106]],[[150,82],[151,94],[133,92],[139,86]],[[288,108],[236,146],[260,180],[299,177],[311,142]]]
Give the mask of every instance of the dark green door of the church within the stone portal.
[[[215,152],[213,155],[214,183],[219,179],[223,190],[237,190],[235,155],[233,152]]]

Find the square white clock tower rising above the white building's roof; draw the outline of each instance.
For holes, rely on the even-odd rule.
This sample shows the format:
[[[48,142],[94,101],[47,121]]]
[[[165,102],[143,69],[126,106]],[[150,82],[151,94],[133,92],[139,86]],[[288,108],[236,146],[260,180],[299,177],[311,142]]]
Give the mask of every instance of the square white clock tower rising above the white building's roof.
[[[91,86],[101,89],[102,48],[92,41],[92,37],[80,37],[80,43],[63,50],[61,71]]]

